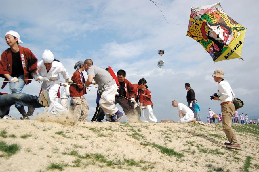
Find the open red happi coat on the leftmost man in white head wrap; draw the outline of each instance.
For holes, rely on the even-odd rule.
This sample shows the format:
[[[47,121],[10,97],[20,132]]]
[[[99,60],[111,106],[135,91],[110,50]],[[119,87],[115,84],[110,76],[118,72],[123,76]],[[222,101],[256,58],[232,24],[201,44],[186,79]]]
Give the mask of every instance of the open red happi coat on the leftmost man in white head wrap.
[[[21,47],[19,45],[18,47],[19,47],[21,61],[22,61],[24,79],[33,79],[33,77],[31,76],[31,73],[36,72],[38,59],[34,56],[31,50],[29,50],[29,48]],[[12,66],[13,66],[12,52],[11,52],[11,48],[8,48],[1,55],[0,77],[5,78],[3,74],[9,74],[12,76]],[[5,78],[4,81],[8,81],[8,79]],[[8,82],[4,82],[2,85],[2,88],[4,88],[7,83]],[[25,80],[25,83],[29,84],[31,83],[31,80]]]

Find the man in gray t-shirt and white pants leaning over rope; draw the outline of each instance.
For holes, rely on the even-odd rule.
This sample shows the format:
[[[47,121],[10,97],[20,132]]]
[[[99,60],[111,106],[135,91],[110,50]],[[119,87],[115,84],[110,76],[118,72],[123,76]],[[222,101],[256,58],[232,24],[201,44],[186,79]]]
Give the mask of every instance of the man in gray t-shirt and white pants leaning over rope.
[[[94,66],[91,59],[86,59],[84,65],[85,71],[87,71],[88,74],[88,78],[83,86],[87,87],[94,79],[100,88],[104,88],[99,101],[99,106],[102,108],[108,118],[112,115],[111,122],[116,121],[116,116],[114,114],[117,115],[117,121],[119,121],[122,118],[123,113],[120,112],[114,104],[115,95],[118,89],[115,80],[105,69]]]

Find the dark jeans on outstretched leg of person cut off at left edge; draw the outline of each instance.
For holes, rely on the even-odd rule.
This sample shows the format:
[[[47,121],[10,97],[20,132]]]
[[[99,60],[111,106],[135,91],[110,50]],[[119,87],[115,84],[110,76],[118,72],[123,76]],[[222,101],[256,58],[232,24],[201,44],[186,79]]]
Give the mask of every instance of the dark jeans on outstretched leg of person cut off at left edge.
[[[3,118],[9,113],[9,109],[14,104],[20,104],[28,107],[44,107],[38,102],[38,96],[29,94],[4,94],[0,95],[0,117]]]

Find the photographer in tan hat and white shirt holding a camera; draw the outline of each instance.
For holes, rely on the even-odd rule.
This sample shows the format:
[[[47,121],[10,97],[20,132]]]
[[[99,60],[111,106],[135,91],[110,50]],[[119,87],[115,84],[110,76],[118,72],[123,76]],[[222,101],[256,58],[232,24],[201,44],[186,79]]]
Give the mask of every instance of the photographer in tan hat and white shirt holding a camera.
[[[213,95],[214,100],[220,101],[221,114],[223,118],[223,131],[228,138],[229,143],[224,143],[228,149],[241,149],[238,143],[237,137],[234,130],[231,128],[231,118],[235,112],[235,106],[233,104],[233,99],[235,94],[233,93],[229,83],[225,81],[224,71],[216,69],[212,74],[215,82],[218,82],[218,97]]]

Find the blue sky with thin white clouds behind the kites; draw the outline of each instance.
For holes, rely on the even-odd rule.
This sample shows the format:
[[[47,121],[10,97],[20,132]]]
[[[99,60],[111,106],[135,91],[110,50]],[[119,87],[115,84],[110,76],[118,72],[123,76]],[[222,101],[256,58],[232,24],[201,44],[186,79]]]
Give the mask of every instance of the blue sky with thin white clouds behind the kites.
[[[245,105],[239,114],[251,118],[258,115],[258,46],[257,16],[258,1],[221,1],[222,9],[232,19],[247,27],[242,57],[213,63],[210,55],[195,40],[186,36],[190,7],[217,3],[218,1],[156,1],[161,11],[148,0],[109,1],[1,1],[0,51],[9,48],[5,33],[15,30],[28,47],[41,60],[45,49],[50,49],[54,58],[60,60],[70,77],[74,64],[91,58],[94,65],[111,66],[115,73],[126,71],[126,78],[135,84],[144,77],[152,92],[153,111],[158,121],[179,120],[172,100],[187,104],[184,83],[190,83],[201,107],[201,118],[207,120],[210,107],[220,114],[218,101],[209,96],[217,92],[217,83],[211,74],[215,69],[225,72],[237,98]],[[158,50],[165,50],[160,57]],[[157,61],[164,60],[159,69]],[[84,71],[83,74],[87,76]],[[3,79],[0,79],[1,81]],[[63,79],[62,79],[63,80]],[[41,84],[33,81],[24,91],[38,95]],[[9,92],[9,85],[2,92]],[[96,90],[85,95],[89,103],[89,117],[96,108]],[[117,106],[119,107],[119,105]],[[119,107],[119,109],[121,109]],[[41,109],[38,109],[41,111]],[[157,115],[159,114],[159,115]],[[11,116],[20,117],[12,106]],[[122,121],[126,118],[123,117]]]

